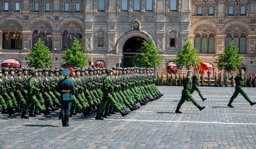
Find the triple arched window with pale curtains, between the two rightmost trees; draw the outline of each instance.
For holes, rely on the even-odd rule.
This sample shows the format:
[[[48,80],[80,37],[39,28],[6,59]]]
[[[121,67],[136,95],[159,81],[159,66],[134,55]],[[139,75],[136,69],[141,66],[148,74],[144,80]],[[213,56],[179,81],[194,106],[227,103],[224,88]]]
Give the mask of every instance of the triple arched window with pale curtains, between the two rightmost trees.
[[[209,38],[207,34],[195,35],[194,47],[197,49],[198,53],[214,53],[215,52],[215,39],[214,35],[210,34]]]

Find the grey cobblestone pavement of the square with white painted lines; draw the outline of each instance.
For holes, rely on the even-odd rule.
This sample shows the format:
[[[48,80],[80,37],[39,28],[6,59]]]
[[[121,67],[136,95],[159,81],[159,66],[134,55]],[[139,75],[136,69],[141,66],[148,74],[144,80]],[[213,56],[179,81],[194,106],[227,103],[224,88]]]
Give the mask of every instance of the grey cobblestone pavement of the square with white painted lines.
[[[191,102],[175,114],[182,86],[158,86],[162,98],[150,102],[125,117],[120,114],[95,120],[95,114],[71,118],[70,127],[60,127],[59,112],[44,117],[21,119],[21,114],[0,114],[0,148],[256,148],[256,106],[241,96],[226,105],[235,88],[200,87]],[[256,88],[244,88],[256,101]],[[27,112],[28,114],[28,112]]]

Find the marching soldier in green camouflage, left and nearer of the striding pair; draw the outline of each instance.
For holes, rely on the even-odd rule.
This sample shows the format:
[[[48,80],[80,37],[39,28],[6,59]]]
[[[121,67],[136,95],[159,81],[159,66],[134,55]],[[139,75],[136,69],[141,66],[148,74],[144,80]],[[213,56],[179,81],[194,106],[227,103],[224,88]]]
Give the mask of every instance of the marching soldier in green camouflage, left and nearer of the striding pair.
[[[182,95],[181,95],[181,100],[179,101],[179,104],[176,108],[175,113],[182,113],[181,111],[179,111],[179,109],[181,108],[182,104],[185,102],[186,98],[188,98],[190,101],[192,101],[192,103],[197,106],[197,108],[201,111],[203,110],[205,107],[201,107],[196,101],[195,99],[192,97],[190,90],[192,89],[192,81],[191,81],[191,75],[192,75],[192,71],[188,71],[188,75],[185,77],[184,81],[183,81],[183,90],[182,90]],[[197,77],[197,76],[196,76]]]

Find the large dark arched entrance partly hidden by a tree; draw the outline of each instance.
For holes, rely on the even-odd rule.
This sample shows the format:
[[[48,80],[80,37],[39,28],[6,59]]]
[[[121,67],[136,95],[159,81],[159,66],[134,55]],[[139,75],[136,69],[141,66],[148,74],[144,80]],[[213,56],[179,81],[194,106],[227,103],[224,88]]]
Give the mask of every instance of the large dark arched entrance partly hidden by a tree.
[[[141,53],[142,42],[145,39],[143,37],[135,36],[129,38],[123,47],[123,67],[133,67],[135,64],[134,56]]]

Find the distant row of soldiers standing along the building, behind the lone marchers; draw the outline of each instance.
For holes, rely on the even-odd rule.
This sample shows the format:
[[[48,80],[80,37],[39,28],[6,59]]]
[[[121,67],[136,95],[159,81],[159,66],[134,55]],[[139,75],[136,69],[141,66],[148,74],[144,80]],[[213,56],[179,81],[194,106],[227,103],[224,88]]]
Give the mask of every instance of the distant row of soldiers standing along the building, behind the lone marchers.
[[[208,79],[207,79],[207,84],[208,86],[211,86],[211,72],[207,72],[208,75]],[[234,80],[235,77],[233,75],[233,73],[230,73],[231,77],[230,77],[230,83],[231,83],[231,87],[234,87]],[[239,75],[239,72],[237,73],[237,75]],[[157,73],[156,74],[156,85],[160,85],[160,86],[183,86],[183,80],[186,77],[185,73]],[[198,78],[200,79],[201,82],[201,86],[204,86],[204,82],[205,82],[205,77],[204,75],[199,76]],[[228,74],[227,72],[225,72],[224,74],[222,74],[222,72],[220,72],[219,74],[217,72],[215,72],[215,76],[214,76],[214,85],[215,86],[228,86]],[[244,87],[256,87],[256,73],[249,73],[248,75],[246,75],[246,73],[244,73]]]

